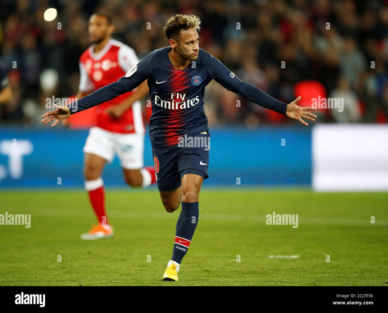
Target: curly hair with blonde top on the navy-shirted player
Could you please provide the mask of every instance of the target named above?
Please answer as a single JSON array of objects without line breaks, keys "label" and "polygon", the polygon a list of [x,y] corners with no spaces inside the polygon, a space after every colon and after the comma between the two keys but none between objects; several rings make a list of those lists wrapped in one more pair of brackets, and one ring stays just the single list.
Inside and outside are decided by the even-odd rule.
[{"label": "curly hair with blonde top on the navy-shirted player", "polygon": [[180,31],[182,29],[196,28],[197,31],[201,29],[201,20],[194,14],[191,15],[183,15],[177,14],[172,16],[166,22],[163,31],[167,39],[176,39],[180,35]]}]

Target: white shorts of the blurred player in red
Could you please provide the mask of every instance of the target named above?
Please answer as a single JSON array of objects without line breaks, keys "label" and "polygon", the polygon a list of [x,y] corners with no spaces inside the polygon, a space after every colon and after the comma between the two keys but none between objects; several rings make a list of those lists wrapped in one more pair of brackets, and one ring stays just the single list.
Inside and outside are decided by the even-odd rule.
[{"label": "white shorts of the blurred player in red", "polygon": [[123,169],[141,169],[144,165],[144,134],[119,134],[95,126],[90,128],[82,151],[98,155],[109,163],[117,154]]}]

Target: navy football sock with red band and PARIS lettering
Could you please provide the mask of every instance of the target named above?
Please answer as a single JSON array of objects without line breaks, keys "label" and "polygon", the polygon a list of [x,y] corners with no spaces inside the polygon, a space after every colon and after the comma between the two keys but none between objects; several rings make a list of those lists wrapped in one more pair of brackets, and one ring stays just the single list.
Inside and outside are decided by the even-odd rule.
[{"label": "navy football sock with red band and PARIS lettering", "polygon": [[198,223],[199,202],[183,202],[182,211],[180,212],[177,228],[175,229],[175,242],[172,250],[172,260],[179,263],[182,262],[183,257],[189,249],[191,238]]}]

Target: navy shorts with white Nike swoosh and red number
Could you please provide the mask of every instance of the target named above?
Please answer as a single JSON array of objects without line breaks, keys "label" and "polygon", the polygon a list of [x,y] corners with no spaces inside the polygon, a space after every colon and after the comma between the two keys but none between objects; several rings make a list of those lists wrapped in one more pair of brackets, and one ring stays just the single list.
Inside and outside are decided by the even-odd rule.
[{"label": "navy shorts with white Nike swoosh and red number", "polygon": [[154,148],[156,182],[160,191],[172,191],[181,185],[185,174],[208,175],[210,134],[208,131],[182,136],[178,144]]}]

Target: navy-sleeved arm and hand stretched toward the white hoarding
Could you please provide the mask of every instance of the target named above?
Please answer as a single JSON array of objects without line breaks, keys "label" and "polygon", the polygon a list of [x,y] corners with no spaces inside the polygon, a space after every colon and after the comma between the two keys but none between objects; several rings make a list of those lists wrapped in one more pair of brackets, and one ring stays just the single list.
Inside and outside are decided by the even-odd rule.
[{"label": "navy-sleeved arm and hand stretched toward the white hoarding", "polygon": [[277,113],[284,114],[292,119],[297,119],[306,126],[308,124],[301,119],[302,117],[309,120],[315,120],[313,117],[317,117],[310,112],[306,112],[306,110],[315,110],[315,108],[299,107],[296,104],[300,100],[300,97],[298,97],[290,104],[276,100],[259,88],[241,81],[233,72],[231,72],[225,65],[223,65],[222,62],[213,56],[209,58],[206,66],[210,72],[211,77],[217,81],[217,83],[253,103],[256,103]]}]

